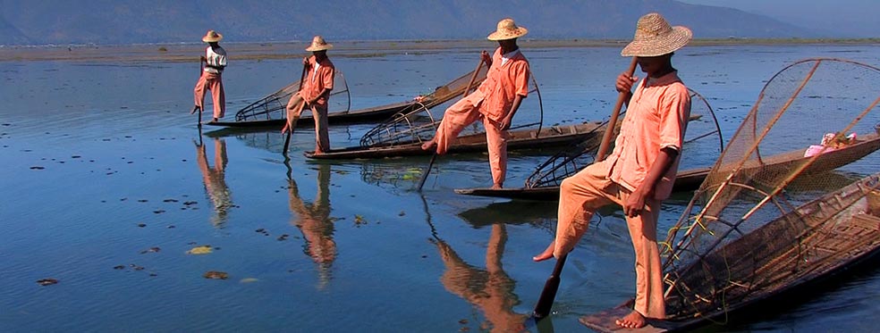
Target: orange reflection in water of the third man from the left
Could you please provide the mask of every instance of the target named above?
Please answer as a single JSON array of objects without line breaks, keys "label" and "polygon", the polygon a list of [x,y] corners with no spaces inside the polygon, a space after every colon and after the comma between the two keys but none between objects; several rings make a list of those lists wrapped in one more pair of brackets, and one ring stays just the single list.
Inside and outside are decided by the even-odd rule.
[{"label": "orange reflection in water of the third man from the left", "polygon": [[504,244],[507,243],[507,229],[503,223],[492,225],[486,252],[486,270],[461,260],[443,240],[436,239],[433,242],[440,250],[440,257],[446,266],[446,271],[440,278],[446,290],[478,306],[486,315],[487,322],[480,324],[480,330],[526,330],[525,322],[529,316],[513,312],[513,306],[520,304],[520,299],[513,293],[515,281],[507,276],[501,263]]}]

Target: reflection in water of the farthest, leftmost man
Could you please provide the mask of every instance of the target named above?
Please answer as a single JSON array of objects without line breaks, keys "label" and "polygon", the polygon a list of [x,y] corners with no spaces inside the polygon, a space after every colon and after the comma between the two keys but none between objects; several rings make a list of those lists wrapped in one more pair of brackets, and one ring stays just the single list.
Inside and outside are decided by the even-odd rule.
[{"label": "reflection in water of the farthest, leftmost man", "polygon": [[196,144],[196,161],[199,162],[199,171],[205,183],[205,191],[211,199],[215,214],[211,216],[211,223],[217,228],[223,228],[228,219],[227,213],[233,206],[229,187],[226,186],[226,141],[222,138],[214,138],[214,167],[207,162],[205,145]]}]

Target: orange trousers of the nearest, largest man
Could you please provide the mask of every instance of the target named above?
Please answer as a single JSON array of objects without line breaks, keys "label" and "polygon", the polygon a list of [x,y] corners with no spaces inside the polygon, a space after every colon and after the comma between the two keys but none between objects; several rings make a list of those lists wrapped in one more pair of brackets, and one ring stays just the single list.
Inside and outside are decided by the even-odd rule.
[{"label": "orange trousers of the nearest, largest man", "polygon": [[[598,162],[563,180],[553,252],[556,258],[574,248],[597,209],[609,204],[622,206],[630,196],[630,191],[608,179],[608,174],[606,163]],[[663,263],[657,247],[659,214],[660,201],[648,199],[644,210],[636,217],[628,217],[626,224],[636,254],[634,310],[647,318],[664,319]]]}]

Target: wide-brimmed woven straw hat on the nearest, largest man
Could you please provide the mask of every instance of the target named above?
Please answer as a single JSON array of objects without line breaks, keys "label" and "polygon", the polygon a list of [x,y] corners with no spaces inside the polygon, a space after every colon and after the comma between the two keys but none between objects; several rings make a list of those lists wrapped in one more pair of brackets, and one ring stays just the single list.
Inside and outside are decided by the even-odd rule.
[{"label": "wide-brimmed woven straw hat on the nearest, largest man", "polygon": [[622,56],[657,56],[673,53],[681,46],[688,45],[693,32],[690,29],[669,25],[669,22],[656,12],[639,18],[636,35],[632,42],[621,51]]}]

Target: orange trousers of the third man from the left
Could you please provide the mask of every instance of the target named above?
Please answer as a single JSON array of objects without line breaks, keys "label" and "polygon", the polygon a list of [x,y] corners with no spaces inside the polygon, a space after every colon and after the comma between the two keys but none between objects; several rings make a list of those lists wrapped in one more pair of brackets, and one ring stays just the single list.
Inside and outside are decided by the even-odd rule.
[{"label": "orange trousers of the third man from the left", "polygon": [[489,168],[492,170],[492,181],[502,185],[507,176],[508,133],[506,130],[500,129],[500,123],[489,120],[479,112],[480,104],[474,106],[468,101],[468,98],[464,98],[446,109],[435,134],[437,154],[446,154],[461,130],[482,118],[483,128],[486,129],[486,146],[489,153]]}]

